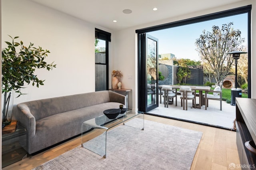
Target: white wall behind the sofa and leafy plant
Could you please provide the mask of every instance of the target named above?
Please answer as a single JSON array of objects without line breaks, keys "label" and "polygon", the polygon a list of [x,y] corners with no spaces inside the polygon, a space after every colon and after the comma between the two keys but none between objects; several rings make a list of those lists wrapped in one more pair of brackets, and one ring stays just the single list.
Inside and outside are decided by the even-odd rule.
[{"label": "white wall behind the sofa and leafy plant", "polygon": [[14,104],[95,91],[95,27],[35,2],[2,0],[2,47],[11,41],[8,35],[19,36],[24,45],[32,42],[50,50],[46,61],[57,64],[52,71],[38,69],[44,85],[28,85],[22,89],[28,94],[14,99]]}]

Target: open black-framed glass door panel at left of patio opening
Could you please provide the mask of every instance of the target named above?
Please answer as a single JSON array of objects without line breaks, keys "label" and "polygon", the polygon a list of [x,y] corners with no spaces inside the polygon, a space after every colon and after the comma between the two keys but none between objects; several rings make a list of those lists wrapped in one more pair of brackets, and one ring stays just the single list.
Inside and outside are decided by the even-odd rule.
[{"label": "open black-framed glass door panel at left of patio opening", "polygon": [[158,107],[158,39],[140,34],[139,110],[150,111]]}]

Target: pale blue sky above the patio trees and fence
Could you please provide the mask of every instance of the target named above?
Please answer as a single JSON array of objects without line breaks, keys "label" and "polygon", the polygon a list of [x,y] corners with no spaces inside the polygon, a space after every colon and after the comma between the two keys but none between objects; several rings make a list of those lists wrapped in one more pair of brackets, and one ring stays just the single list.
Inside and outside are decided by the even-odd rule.
[{"label": "pale blue sky above the patio trees and fence", "polygon": [[158,38],[158,54],[172,53],[178,59],[191,59],[200,61],[196,49],[196,39],[200,37],[203,30],[212,32],[212,26],[222,27],[222,24],[233,22],[233,28],[242,32],[241,37],[245,38],[247,46],[247,13],[205,22],[168,28],[154,32],[148,32],[151,36]]}]

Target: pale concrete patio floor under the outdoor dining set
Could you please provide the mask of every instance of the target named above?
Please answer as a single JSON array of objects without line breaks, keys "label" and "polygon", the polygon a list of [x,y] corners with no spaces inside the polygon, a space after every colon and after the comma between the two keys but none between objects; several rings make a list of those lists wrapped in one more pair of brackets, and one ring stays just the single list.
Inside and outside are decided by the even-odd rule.
[{"label": "pale concrete patio floor under the outdoor dining set", "polygon": [[[163,101],[162,98],[162,104],[159,102],[159,107],[148,111],[148,113],[220,128],[233,129],[233,121],[236,118],[236,107],[226,103],[226,101],[222,101],[222,111],[220,111],[220,101],[215,100],[209,100],[207,110],[205,110],[204,105],[201,109],[192,108],[192,100],[188,100],[187,111],[183,110],[183,107],[181,107],[180,96],[177,97],[177,107],[175,106],[175,99],[174,104],[169,104],[168,108],[164,107]],[[196,103],[198,103],[198,97],[196,101]]]}]

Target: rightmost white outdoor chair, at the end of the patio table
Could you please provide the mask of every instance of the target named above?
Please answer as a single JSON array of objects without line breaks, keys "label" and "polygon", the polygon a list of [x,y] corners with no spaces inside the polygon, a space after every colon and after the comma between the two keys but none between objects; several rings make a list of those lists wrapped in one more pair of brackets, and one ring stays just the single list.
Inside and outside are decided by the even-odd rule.
[{"label": "rightmost white outdoor chair, at the end of the patio table", "polygon": [[[213,94],[208,94],[209,92],[213,92]],[[220,110],[222,110],[222,91],[220,86],[216,86],[214,90],[206,91],[205,93],[205,110],[208,107],[208,100],[219,100],[220,101]]]}]

